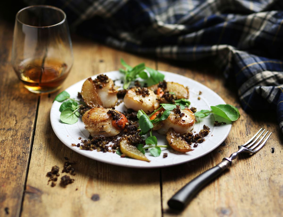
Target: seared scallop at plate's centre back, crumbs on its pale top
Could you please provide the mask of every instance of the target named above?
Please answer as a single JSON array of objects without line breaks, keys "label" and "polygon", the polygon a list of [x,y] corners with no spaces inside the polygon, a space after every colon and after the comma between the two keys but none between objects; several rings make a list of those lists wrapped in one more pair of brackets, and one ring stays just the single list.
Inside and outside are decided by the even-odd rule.
[{"label": "seared scallop at plate's centre back, crumbs on its pale top", "polygon": [[158,108],[157,95],[152,90],[143,88],[129,89],[124,97],[124,104],[127,108],[134,111],[143,110],[145,113],[150,113]]}]

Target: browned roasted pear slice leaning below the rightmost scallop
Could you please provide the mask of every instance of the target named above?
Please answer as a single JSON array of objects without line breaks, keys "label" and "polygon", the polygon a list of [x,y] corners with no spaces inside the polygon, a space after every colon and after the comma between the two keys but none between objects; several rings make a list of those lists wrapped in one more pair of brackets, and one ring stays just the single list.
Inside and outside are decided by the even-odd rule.
[{"label": "browned roasted pear slice leaning below the rightmost scallop", "polygon": [[177,152],[190,152],[192,151],[191,146],[180,137],[179,133],[176,133],[173,128],[170,128],[166,134],[166,139],[170,147]]}]

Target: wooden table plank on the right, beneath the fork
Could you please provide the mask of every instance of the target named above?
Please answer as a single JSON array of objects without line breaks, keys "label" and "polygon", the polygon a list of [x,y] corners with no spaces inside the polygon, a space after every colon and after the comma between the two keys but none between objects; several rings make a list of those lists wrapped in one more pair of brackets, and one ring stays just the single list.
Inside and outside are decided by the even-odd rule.
[{"label": "wooden table plank on the right, beneath the fork", "polygon": [[[186,63],[190,68],[201,65]],[[218,93],[226,103],[240,108],[236,91],[224,86],[221,73],[215,69],[190,70],[185,65],[175,67],[158,62],[158,69],[192,78]],[[225,142],[210,154],[198,160],[162,169],[162,201],[164,216],[282,216],[283,163],[282,133],[274,112],[245,113],[233,123]],[[171,211],[167,201],[188,181],[215,166],[223,157],[237,151],[259,128],[273,132],[265,147],[256,155],[240,155],[233,165],[216,181],[203,189],[183,212]],[[274,153],[272,153],[274,148]]]}]

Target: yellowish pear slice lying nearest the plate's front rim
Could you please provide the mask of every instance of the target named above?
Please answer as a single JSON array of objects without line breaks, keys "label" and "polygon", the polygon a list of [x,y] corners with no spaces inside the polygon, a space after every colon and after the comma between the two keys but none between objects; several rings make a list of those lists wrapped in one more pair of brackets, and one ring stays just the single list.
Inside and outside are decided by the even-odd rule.
[{"label": "yellowish pear slice lying nearest the plate's front rim", "polygon": [[143,153],[141,153],[136,146],[133,146],[127,139],[120,142],[120,151],[122,154],[125,154],[127,157],[131,157],[141,161],[150,162]]}]

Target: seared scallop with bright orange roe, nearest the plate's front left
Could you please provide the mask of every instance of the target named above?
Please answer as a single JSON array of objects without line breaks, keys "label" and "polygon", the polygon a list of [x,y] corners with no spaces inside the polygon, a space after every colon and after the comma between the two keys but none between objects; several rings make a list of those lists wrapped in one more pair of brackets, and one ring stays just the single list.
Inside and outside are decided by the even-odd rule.
[{"label": "seared scallop with bright orange roe, nearest the plate's front left", "polygon": [[92,136],[102,135],[105,137],[118,135],[128,122],[121,112],[102,107],[95,107],[85,112],[82,121],[85,124],[85,129]]}]

